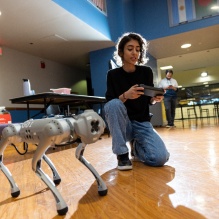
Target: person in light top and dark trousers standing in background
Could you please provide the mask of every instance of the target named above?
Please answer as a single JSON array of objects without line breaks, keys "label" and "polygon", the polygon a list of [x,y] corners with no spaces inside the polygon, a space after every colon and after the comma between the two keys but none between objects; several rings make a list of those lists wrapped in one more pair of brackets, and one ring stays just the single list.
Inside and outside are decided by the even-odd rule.
[{"label": "person in light top and dark trousers standing in background", "polygon": [[167,128],[174,127],[174,119],[176,112],[176,104],[177,104],[177,91],[178,91],[178,83],[173,77],[172,70],[166,70],[166,77],[163,78],[159,87],[163,88],[166,92],[164,94],[164,106],[166,110],[166,118],[167,118]]}]

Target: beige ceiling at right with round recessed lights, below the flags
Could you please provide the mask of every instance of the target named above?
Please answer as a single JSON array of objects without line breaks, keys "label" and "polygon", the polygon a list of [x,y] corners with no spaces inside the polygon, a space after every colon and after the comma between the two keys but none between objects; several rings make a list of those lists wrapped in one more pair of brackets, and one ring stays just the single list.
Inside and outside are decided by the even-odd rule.
[{"label": "beige ceiling at right with round recessed lights, below the flags", "polygon": [[[182,86],[219,83],[219,25],[159,38],[149,42],[148,52],[158,61],[158,67],[173,66],[174,78]],[[188,49],[181,45],[190,43]],[[208,77],[201,78],[202,71]],[[162,76],[165,75],[162,71]]]}]

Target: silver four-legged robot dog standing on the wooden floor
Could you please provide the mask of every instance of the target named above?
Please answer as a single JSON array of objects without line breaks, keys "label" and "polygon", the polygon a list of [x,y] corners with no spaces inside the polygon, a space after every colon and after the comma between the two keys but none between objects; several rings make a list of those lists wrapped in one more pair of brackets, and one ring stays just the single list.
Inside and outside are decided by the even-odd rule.
[{"label": "silver four-legged robot dog standing on the wooden floor", "polygon": [[[10,144],[26,142],[36,144],[37,149],[33,155],[32,169],[49,187],[56,199],[57,212],[59,215],[66,214],[68,207],[57,190],[55,184],[61,182],[61,178],[51,162],[45,155],[49,147],[54,147],[66,142],[79,140],[75,156],[79,159],[94,175],[98,183],[98,193],[101,196],[107,194],[107,187],[94,167],[84,158],[83,152],[86,144],[96,142],[105,128],[102,118],[93,110],[86,110],[84,113],[73,117],[53,117],[37,120],[28,120],[22,124],[10,124],[2,131],[0,142],[0,169],[7,177],[11,185],[11,196],[18,197],[20,190],[16,185],[10,171],[3,164],[3,152]],[[41,169],[41,160],[44,160],[53,172],[53,181]]]}]

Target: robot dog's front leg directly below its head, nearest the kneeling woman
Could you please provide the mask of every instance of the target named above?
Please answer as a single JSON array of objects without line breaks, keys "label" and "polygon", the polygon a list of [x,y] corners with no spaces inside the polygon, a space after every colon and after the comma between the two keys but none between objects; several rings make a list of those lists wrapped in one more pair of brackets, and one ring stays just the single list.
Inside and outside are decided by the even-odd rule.
[{"label": "robot dog's front leg directly below its head, nearest the kneeling woman", "polygon": [[94,169],[94,167],[83,156],[85,147],[86,147],[86,144],[80,143],[76,148],[75,156],[93,173],[94,177],[97,180],[98,193],[99,193],[99,195],[104,196],[107,194],[106,184],[104,183],[104,181],[102,180],[102,178],[100,177],[98,172]]}]

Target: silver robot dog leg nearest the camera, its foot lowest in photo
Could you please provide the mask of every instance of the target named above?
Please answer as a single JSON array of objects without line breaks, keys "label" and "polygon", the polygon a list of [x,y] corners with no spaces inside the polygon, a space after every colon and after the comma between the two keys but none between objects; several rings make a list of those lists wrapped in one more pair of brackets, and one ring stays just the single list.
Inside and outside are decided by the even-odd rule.
[{"label": "silver robot dog leg nearest the camera, its foot lowest in photo", "polygon": [[51,140],[52,138],[47,138],[44,141],[40,142],[33,156],[32,168],[36,172],[36,174],[40,177],[40,179],[48,186],[48,188],[51,190],[52,194],[54,195],[56,199],[56,208],[58,214],[64,215],[68,211],[68,206],[65,203],[64,199],[62,198],[61,194],[59,193],[53,181],[41,169],[41,158],[44,156],[45,151],[48,148],[48,145],[50,145],[51,143]]}]

